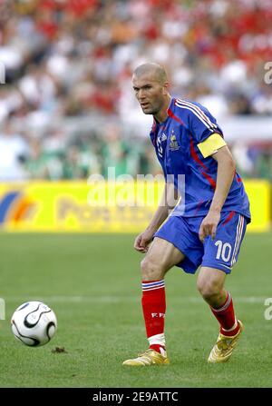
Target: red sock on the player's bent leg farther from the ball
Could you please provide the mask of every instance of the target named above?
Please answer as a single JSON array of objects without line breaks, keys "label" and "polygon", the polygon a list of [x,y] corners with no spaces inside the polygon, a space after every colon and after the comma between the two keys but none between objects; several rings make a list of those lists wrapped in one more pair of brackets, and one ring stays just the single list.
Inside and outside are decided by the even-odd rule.
[{"label": "red sock on the player's bent leg farther from the ball", "polygon": [[219,309],[214,309],[211,306],[210,309],[219,321],[222,334],[232,336],[238,333],[240,326],[236,320],[233,302],[229,293],[226,302]]}]

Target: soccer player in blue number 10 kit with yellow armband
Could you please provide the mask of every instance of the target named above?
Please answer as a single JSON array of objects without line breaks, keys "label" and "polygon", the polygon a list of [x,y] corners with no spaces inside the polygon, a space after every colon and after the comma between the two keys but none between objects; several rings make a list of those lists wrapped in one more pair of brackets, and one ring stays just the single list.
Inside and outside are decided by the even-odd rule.
[{"label": "soccer player in blue number 10 kit with yellow armband", "polygon": [[[159,64],[138,66],[132,83],[143,113],[153,115],[151,142],[166,182],[151,223],[134,243],[138,252],[146,253],[141,262],[141,304],[150,346],[123,365],[170,363],[164,336],[164,276],[174,265],[189,273],[200,266],[199,292],[219,321],[219,337],[208,361],[228,361],[243,324],[224,282],[238,261],[250,222],[247,193],[222,130],[205,107],[171,97]],[[181,195],[174,208],[169,199],[173,188]]]}]

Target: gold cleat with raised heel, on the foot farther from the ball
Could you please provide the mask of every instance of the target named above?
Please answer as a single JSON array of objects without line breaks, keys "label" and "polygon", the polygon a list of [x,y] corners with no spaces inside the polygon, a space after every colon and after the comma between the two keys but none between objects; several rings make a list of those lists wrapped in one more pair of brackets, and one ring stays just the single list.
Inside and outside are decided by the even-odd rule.
[{"label": "gold cleat with raised heel, on the foot farther from the ball", "polygon": [[242,322],[238,320],[238,323],[240,325],[240,329],[236,335],[227,336],[219,332],[218,341],[209,354],[208,362],[215,363],[228,361],[228,358],[238,343],[241,332],[244,330]]}]

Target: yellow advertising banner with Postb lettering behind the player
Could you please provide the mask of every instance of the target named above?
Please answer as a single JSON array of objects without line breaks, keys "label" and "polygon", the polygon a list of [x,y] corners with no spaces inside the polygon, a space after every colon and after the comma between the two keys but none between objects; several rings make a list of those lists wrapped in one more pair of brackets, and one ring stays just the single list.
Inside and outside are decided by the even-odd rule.
[{"label": "yellow advertising banner with Postb lettering behind the player", "polygon": [[[245,182],[252,223],[270,225],[270,184]],[[163,183],[138,181],[0,183],[0,230],[8,232],[140,233],[151,220]]]}]

